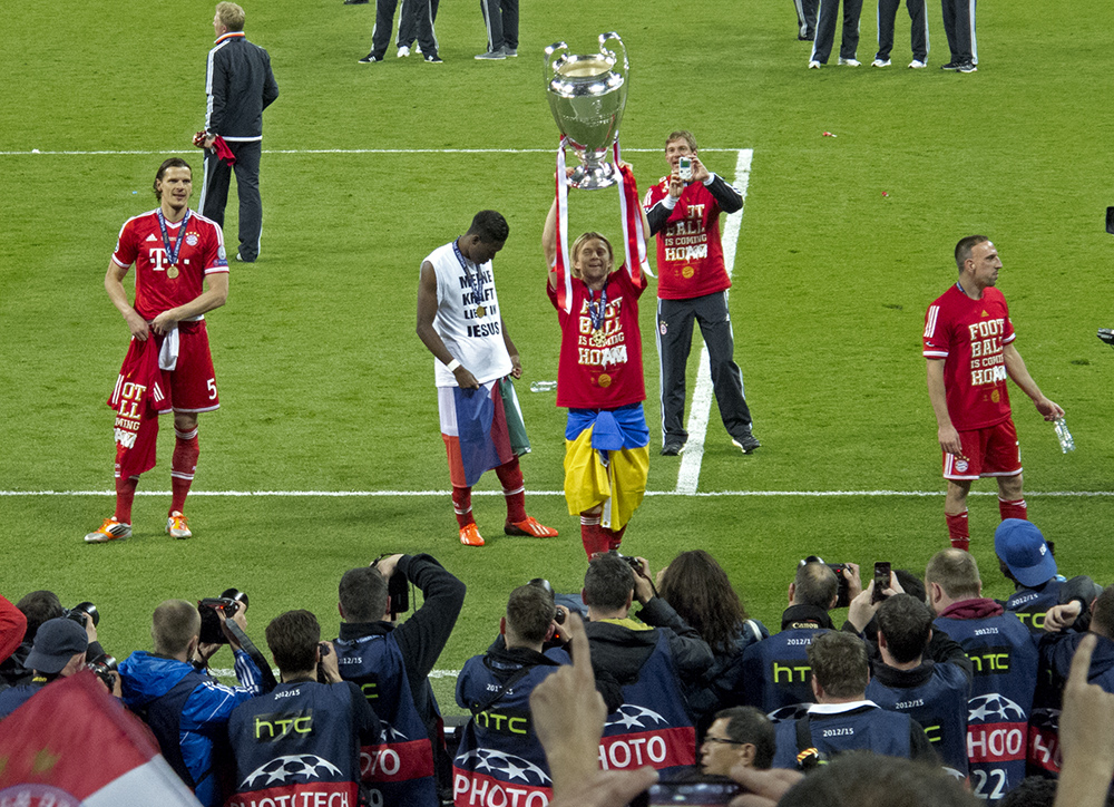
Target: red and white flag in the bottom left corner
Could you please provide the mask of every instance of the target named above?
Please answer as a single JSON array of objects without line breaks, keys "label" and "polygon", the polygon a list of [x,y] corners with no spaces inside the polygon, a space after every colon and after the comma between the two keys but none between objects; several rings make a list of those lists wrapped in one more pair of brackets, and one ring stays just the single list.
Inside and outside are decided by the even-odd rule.
[{"label": "red and white flag in the bottom left corner", "polygon": [[82,671],[0,725],[0,804],[199,807],[138,718]]}]

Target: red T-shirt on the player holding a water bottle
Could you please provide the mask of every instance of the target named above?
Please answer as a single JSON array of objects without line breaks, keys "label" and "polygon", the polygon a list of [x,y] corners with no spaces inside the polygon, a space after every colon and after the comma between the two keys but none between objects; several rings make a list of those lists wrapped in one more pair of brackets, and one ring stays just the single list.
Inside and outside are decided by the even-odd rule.
[{"label": "red T-shirt on the player holding a water bottle", "polygon": [[957,283],[928,307],[924,354],[944,360],[948,415],[956,430],[985,429],[1009,417],[1003,347],[1015,336],[1006,298],[997,289],[971,300]]}]

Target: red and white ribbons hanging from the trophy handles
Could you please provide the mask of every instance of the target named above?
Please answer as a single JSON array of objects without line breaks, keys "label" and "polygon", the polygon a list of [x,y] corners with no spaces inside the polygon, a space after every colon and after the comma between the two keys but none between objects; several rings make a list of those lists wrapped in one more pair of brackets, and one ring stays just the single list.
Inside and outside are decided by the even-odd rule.
[{"label": "red and white ribbons hanging from the trophy handles", "polygon": [[[565,172],[565,147],[567,137],[557,146],[557,307],[569,313],[573,304],[573,262],[568,254],[568,175]],[[638,187],[631,168],[619,163],[619,143],[612,146],[615,169],[619,172],[619,212],[623,216],[623,255],[626,271],[636,284],[642,283],[642,273],[651,278],[646,262],[646,232],[643,229],[642,203]]]}]

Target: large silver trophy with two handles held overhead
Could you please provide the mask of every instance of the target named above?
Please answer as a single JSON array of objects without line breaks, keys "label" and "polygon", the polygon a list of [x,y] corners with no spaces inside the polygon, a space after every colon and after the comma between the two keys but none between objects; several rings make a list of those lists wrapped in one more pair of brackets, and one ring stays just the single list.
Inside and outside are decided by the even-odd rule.
[{"label": "large silver trophy with two handles held overhead", "polygon": [[[610,40],[618,42],[619,52],[604,47]],[[604,158],[618,139],[629,69],[626,47],[615,32],[599,35],[598,54],[577,56],[565,42],[546,48],[549,108],[582,163],[570,177],[576,187],[595,189],[618,182],[617,167]]]}]

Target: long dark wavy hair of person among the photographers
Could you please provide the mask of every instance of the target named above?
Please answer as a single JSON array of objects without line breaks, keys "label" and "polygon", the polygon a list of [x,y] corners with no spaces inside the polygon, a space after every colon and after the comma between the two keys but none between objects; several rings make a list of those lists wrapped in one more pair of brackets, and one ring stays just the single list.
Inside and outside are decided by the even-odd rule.
[{"label": "long dark wavy hair of person among the photographers", "polygon": [[682,552],[662,574],[658,595],[717,652],[742,632],[746,610],[727,573],[704,550]]}]

